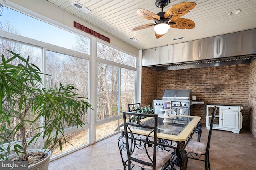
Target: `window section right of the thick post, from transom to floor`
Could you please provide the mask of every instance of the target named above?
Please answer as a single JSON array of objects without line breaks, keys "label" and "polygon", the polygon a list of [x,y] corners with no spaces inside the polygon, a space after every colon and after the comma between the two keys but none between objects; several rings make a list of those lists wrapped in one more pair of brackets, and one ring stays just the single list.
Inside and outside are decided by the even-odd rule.
[{"label": "window section right of the thick post, from transom to floor", "polygon": [[[106,60],[97,64],[97,121],[103,121],[120,116],[135,101],[136,69],[130,66],[135,67],[136,58],[101,43],[97,44],[97,57]],[[96,126],[96,139],[116,132],[118,122],[110,119]],[[108,130],[102,131],[102,126]]]}]

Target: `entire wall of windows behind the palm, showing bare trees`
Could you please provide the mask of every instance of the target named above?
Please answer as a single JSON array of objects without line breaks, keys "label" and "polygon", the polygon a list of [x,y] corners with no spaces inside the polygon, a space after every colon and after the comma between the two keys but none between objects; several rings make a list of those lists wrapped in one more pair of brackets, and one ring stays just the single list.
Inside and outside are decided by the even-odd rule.
[{"label": "entire wall of windows behind the palm, showing bare trees", "polygon": [[[90,142],[117,132],[122,123],[122,111],[127,110],[127,104],[135,101],[136,57],[104,43],[98,42],[97,47],[92,48],[91,39],[82,36],[84,33],[77,35],[76,31],[66,31],[10,8],[4,7],[2,12],[0,54],[10,57],[10,53],[6,51],[8,49],[20,53],[22,57],[30,56],[30,63],[36,64],[42,72],[51,75],[43,76],[45,87],[60,86],[60,82],[62,85],[73,84],[81,96],[94,104],[94,111],[90,110],[82,118],[86,124],[83,128],[65,127],[65,137],[73,146],[62,145],[62,152],[89,145]],[[92,42],[97,40],[95,37],[92,39]],[[97,51],[91,53],[91,49]],[[95,53],[96,56],[93,55]],[[96,76],[91,76],[90,70],[92,75]],[[91,101],[92,96],[97,96],[97,100]],[[92,114],[95,114],[95,120],[92,119]],[[38,126],[41,122],[38,120]],[[8,128],[13,127],[14,125],[11,125]],[[33,131],[34,129],[36,127],[30,127],[27,137],[33,137],[40,131]],[[20,137],[13,139],[17,141]],[[33,147],[40,148],[43,143],[42,139],[38,139]],[[60,154],[58,146],[52,154]]]}]

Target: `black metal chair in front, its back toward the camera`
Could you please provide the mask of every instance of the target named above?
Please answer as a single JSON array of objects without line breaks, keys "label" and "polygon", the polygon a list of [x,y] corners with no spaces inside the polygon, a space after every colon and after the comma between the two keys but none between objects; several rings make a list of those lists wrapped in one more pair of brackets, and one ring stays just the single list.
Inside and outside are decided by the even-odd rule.
[{"label": "black metal chair in front, its back toward the camera", "polygon": [[[163,166],[166,169],[170,165],[172,154],[166,150],[157,149],[158,115],[123,112],[123,118],[128,170],[133,165],[141,167],[142,170],[158,170]],[[133,132],[134,129],[144,129],[149,134],[141,138]]]}]

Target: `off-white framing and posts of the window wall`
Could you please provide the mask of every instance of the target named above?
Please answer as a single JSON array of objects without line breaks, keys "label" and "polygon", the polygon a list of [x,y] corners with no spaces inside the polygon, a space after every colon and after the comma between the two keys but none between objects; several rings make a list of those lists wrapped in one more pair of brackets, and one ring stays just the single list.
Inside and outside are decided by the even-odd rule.
[{"label": "off-white framing and posts of the window wall", "polygon": [[[82,58],[82,59],[89,59],[89,93],[88,93],[88,102],[90,102],[90,104],[92,104],[93,106],[96,106],[96,100],[95,98],[93,97],[93,95],[95,94],[95,89],[94,89],[94,86],[96,85],[96,80],[93,78],[94,75],[95,75],[95,66],[97,65],[97,62],[101,62],[101,63],[104,63],[104,64],[110,64],[110,65],[114,65],[114,66],[118,66],[119,69],[121,68],[125,68],[125,69],[129,69],[129,70],[134,70],[136,73],[136,78],[135,78],[135,101],[138,102],[138,100],[140,100],[140,90],[138,91],[138,83],[140,82],[140,78],[139,78],[139,75],[140,75],[140,70],[139,69],[139,61],[141,61],[141,55],[140,57],[139,56],[136,56],[136,55],[133,55],[131,53],[128,53],[127,51],[124,51],[122,49],[119,49],[117,47],[114,47],[113,45],[111,44],[108,44],[106,43],[105,41],[102,41],[100,39],[97,39],[96,37],[93,37],[91,35],[88,35],[86,33],[83,33],[81,32],[80,30],[77,30],[77,29],[74,29],[72,27],[69,27],[67,25],[64,25],[62,23],[58,23],[57,21],[54,21],[54,20],[51,20],[49,18],[45,18],[44,16],[41,16],[40,14],[37,14],[36,12],[32,12],[30,10],[27,10],[25,8],[21,8],[19,9],[18,7],[14,8],[14,7],[10,7],[8,5],[6,5],[8,8],[11,8],[13,10],[16,10],[20,13],[23,13],[23,14],[26,14],[30,17],[33,17],[33,18],[36,18],[40,21],[43,21],[43,22],[46,22],[48,24],[51,24],[51,25],[54,25],[56,27],[59,27],[60,29],[64,29],[66,31],[70,31],[71,33],[74,33],[76,35],[79,35],[79,36],[82,36],[82,37],[85,37],[85,38],[88,38],[90,39],[90,54],[85,54],[85,53],[81,53],[81,52],[78,52],[78,51],[74,51],[74,50],[71,50],[71,49],[66,49],[64,47],[59,47],[59,46],[56,46],[56,45],[52,45],[52,44],[49,44],[49,43],[45,43],[45,42],[42,42],[42,41],[37,41],[35,39],[31,39],[31,38],[28,38],[28,37],[24,37],[24,36],[21,36],[21,35],[16,35],[16,34],[13,34],[13,33],[8,33],[6,31],[0,31],[0,38],[2,39],[6,39],[6,40],[9,40],[9,41],[15,41],[15,42],[18,42],[18,43],[22,43],[22,44],[26,44],[26,45],[30,45],[30,46],[33,46],[33,47],[39,47],[39,48],[42,48],[42,72],[46,72],[46,50],[49,50],[49,51],[53,51],[53,52],[56,52],[56,53],[62,53],[64,55],[69,55],[69,56],[73,56],[73,57],[78,57],[78,58]],[[14,5],[16,6],[16,5]],[[131,55],[132,57],[135,57],[136,58],[136,64],[135,64],[135,67],[132,67],[132,66],[127,66],[127,65],[124,65],[124,64],[120,64],[120,63],[115,63],[115,62],[112,62],[112,61],[107,61],[105,59],[101,59],[101,58],[98,58],[96,56],[96,53],[97,53],[97,42],[103,44],[103,45],[106,45],[110,48],[113,48],[115,50],[118,50],[122,53],[126,53],[127,55]],[[141,53],[141,52],[140,52]],[[94,68],[93,68],[94,67]],[[46,81],[46,78],[45,76],[43,76],[43,82],[44,82],[44,85],[45,85],[45,81]],[[139,95],[138,95],[139,94]],[[120,98],[120,90],[118,92],[118,98]],[[120,102],[120,99],[118,99],[119,102]],[[104,124],[104,123],[108,123],[108,122],[111,122],[111,121],[116,121],[118,120],[118,123],[120,120],[122,120],[122,115],[120,115],[120,103],[118,104],[118,116],[116,117],[111,117],[109,119],[105,119],[105,120],[102,120],[102,121],[96,121],[96,117],[94,117],[94,111],[89,111],[88,113],[88,124],[86,124],[86,126],[84,126],[84,129],[88,129],[88,144],[86,145],[83,145],[83,146],[80,146],[80,147],[77,147],[75,149],[72,149],[68,152],[64,152],[58,156],[54,156],[51,158],[51,160],[55,160],[57,158],[60,158],[61,156],[64,156],[66,154],[69,154],[71,152],[74,152],[76,150],[79,150],[83,147],[86,147],[88,145],[91,145],[93,143],[95,143],[96,141],[100,141],[102,139],[105,139],[111,135],[114,135],[116,133],[119,133],[118,131],[120,130],[119,129],[119,126],[118,126],[118,131],[116,133],[113,133],[113,134],[110,134],[104,138],[100,138],[98,140],[95,140],[95,128],[97,125],[101,125],[101,124]],[[78,130],[82,130],[81,129],[77,129]],[[72,132],[75,132],[76,130],[74,130],[73,128],[68,128],[66,129],[66,133],[72,133]],[[66,134],[65,133],[65,134]]]}]

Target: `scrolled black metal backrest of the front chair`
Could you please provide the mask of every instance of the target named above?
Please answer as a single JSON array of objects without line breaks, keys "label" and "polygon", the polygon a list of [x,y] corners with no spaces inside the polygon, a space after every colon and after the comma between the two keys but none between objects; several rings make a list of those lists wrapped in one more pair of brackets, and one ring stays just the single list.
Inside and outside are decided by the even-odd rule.
[{"label": "scrolled black metal backrest of the front chair", "polygon": [[[152,166],[153,170],[156,167],[156,148],[157,148],[157,114],[142,114],[134,112],[123,112],[124,119],[124,135],[126,139],[127,159],[128,159],[128,170],[131,167],[131,161],[138,162],[147,166]],[[148,135],[138,135],[132,131],[133,129],[146,130]],[[135,131],[136,131],[135,130]],[[151,149],[149,149],[151,147]],[[148,150],[152,150],[152,153],[148,153]],[[139,160],[134,158],[135,150],[144,150],[148,153],[150,162]],[[143,158],[145,160],[145,158]]]}]

